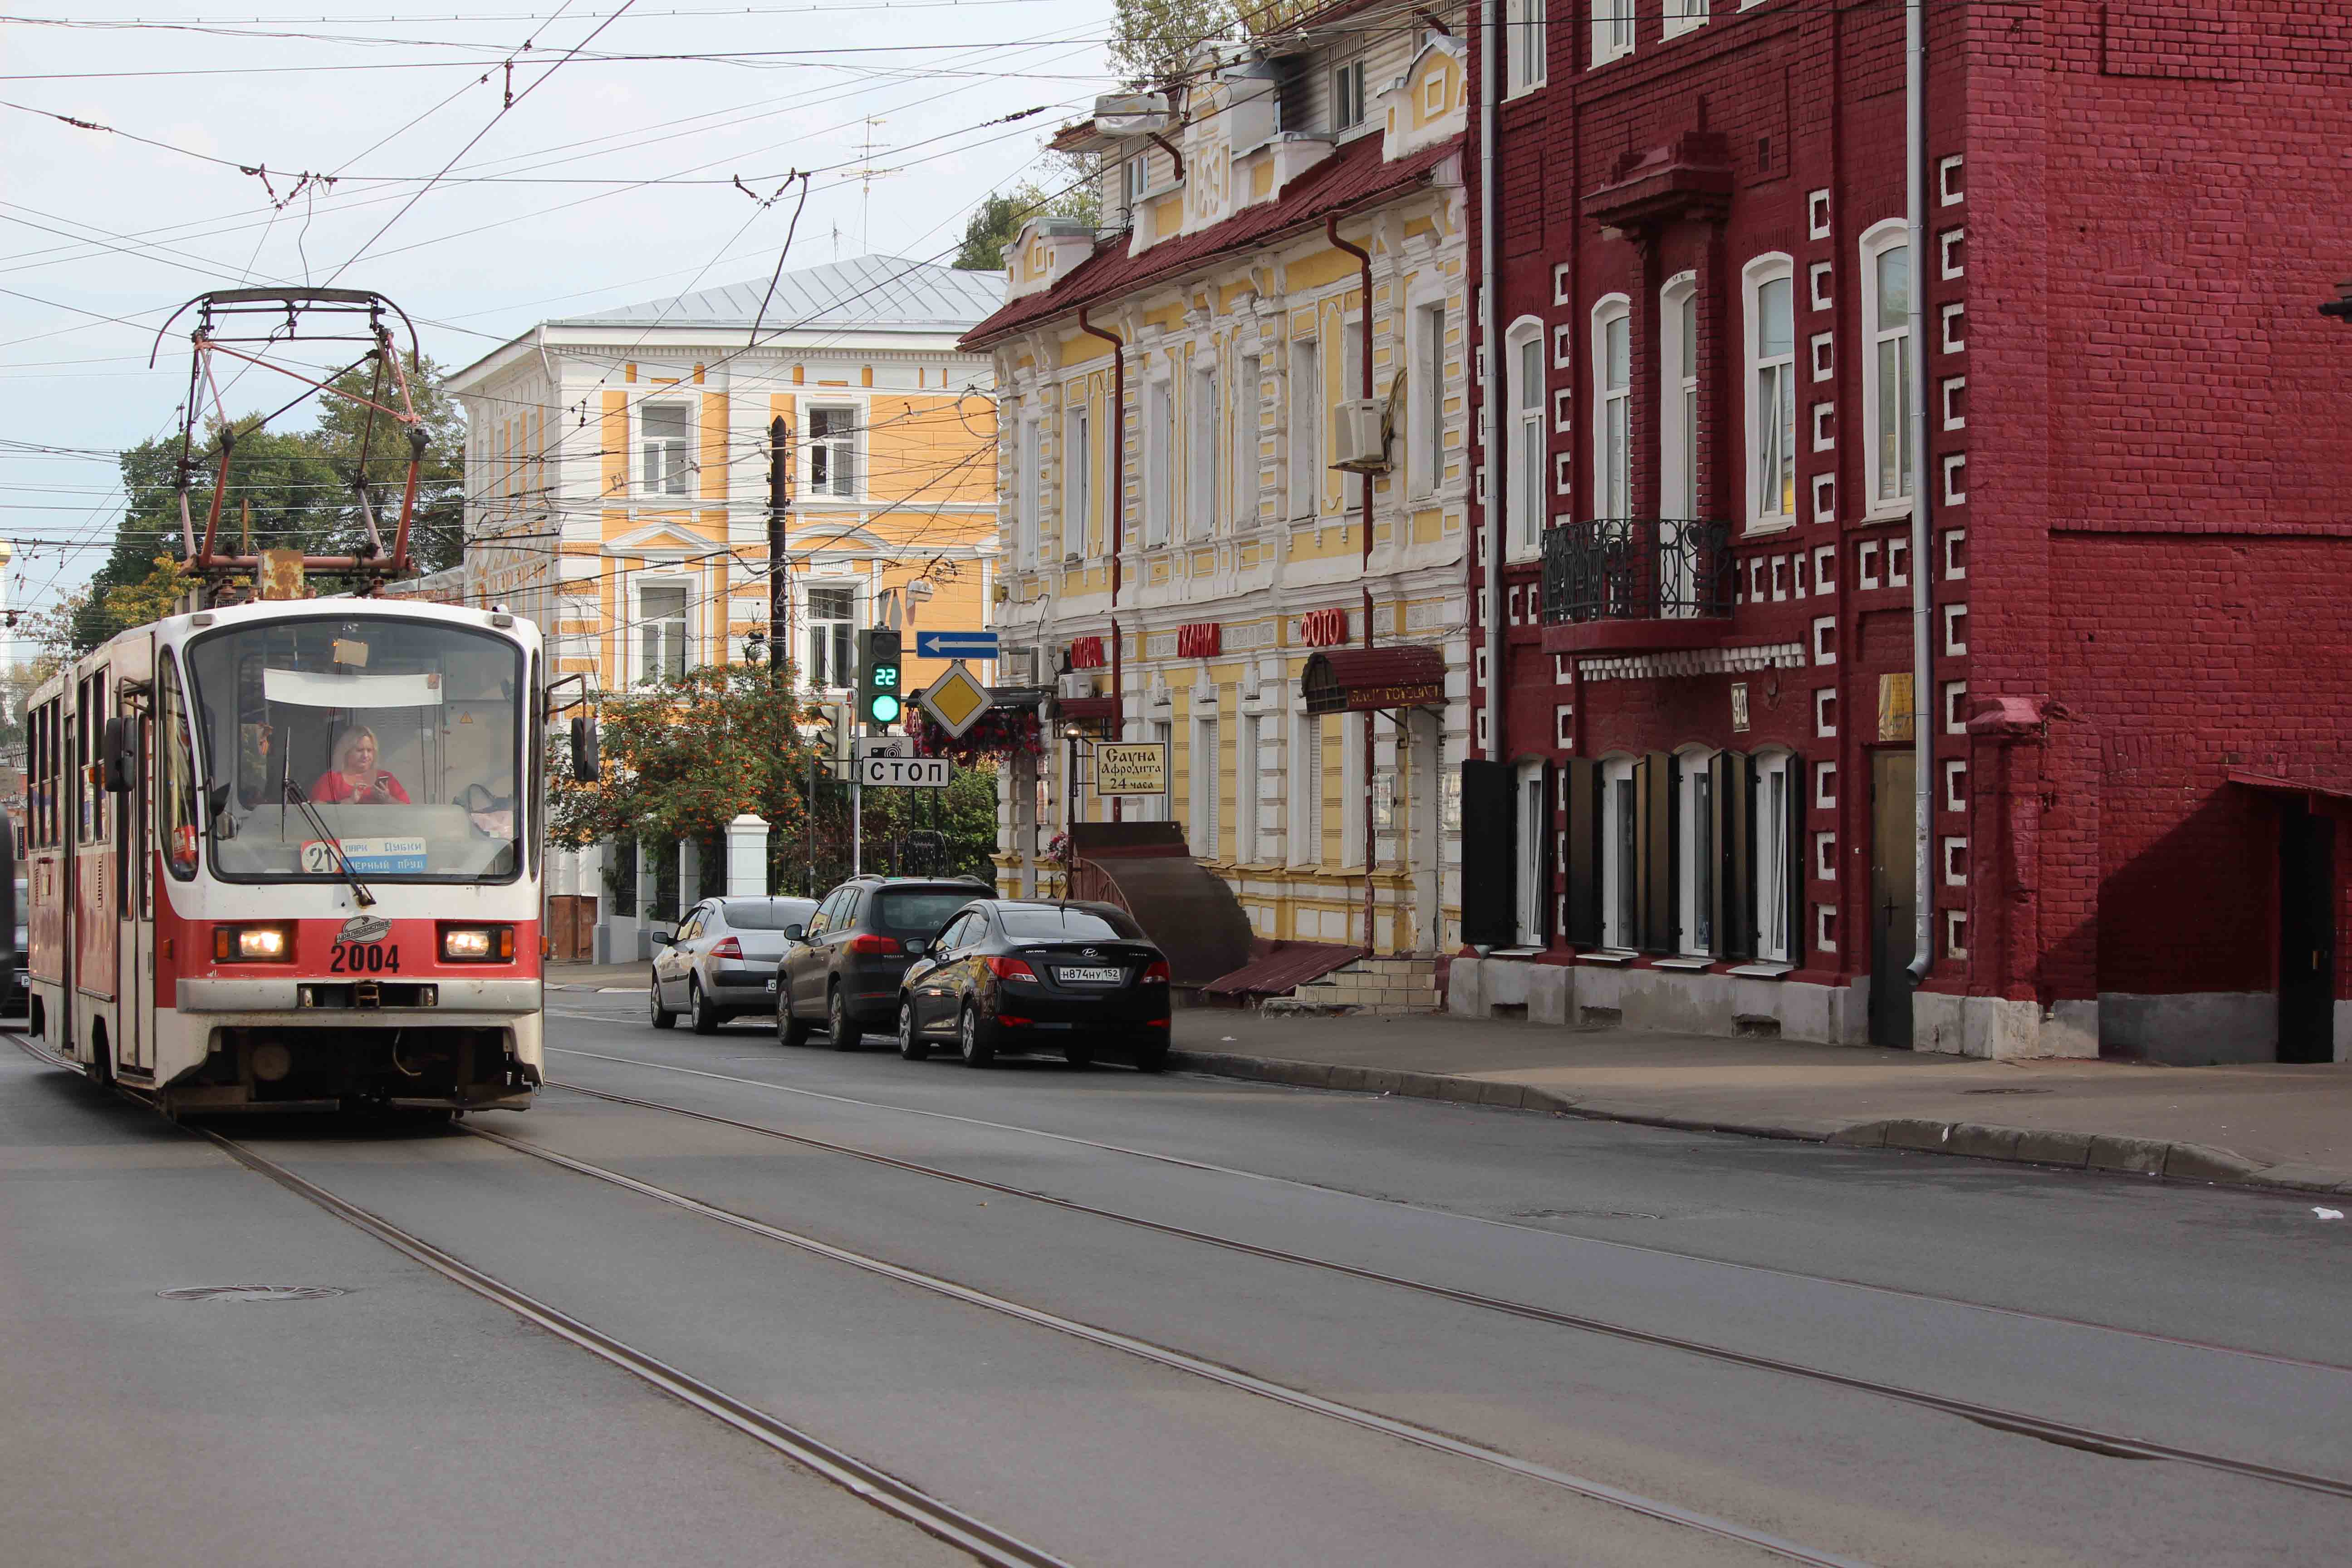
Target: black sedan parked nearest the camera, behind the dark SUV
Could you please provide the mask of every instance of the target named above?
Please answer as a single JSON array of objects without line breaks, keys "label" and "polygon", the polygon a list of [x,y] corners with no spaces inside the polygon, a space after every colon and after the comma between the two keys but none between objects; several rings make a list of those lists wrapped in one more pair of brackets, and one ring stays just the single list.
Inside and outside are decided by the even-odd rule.
[{"label": "black sedan parked nearest the camera, behind the dark SUV", "polygon": [[1096,1051],[1160,1072],[1169,1053],[1169,961],[1108,903],[976,898],[910,964],[898,990],[898,1056],[955,1046],[969,1067],[1000,1051]]}]

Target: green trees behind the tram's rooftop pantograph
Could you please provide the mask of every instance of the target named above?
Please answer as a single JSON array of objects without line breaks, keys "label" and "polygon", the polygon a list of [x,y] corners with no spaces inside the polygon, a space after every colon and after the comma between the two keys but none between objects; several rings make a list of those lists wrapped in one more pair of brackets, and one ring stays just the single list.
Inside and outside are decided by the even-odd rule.
[{"label": "green trees behind the tram's rooftop pantograph", "polygon": [[[376,393],[374,369],[346,371],[334,386],[369,397]],[[440,388],[440,369],[430,360],[409,369],[409,395],[426,430],[426,461],[419,468],[409,538],[419,564],[437,571],[466,555],[466,421],[456,400]],[[376,393],[374,402],[397,407],[388,388]],[[402,425],[348,397],[320,395],[308,407],[318,409],[318,425],[310,430],[256,428],[259,411],[233,421],[238,435],[228,454],[216,550],[240,550],[249,520],[256,550],[282,545],[310,555],[360,552],[367,527],[353,494],[355,477],[367,480],[383,548],[393,548],[409,461]],[[188,458],[193,463],[188,520],[202,534],[221,468],[219,423],[205,428],[202,442]],[[141,442],[122,454],[127,505],[115,529],[115,548],[92,574],[89,585],[59,607],[61,616],[35,625],[35,635],[52,651],[89,651],[115,632],[162,614],[155,609],[155,595],[165,588],[158,562],[176,562],[188,552],[174,489],[176,473],[176,435]],[[162,604],[167,607],[169,597]]]}]

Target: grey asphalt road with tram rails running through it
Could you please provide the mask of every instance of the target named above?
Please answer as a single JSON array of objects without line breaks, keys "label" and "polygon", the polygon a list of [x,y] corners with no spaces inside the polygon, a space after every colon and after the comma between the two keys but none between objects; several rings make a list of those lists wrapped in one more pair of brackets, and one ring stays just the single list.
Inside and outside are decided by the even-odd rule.
[{"label": "grey asphalt road with tram rails running through it", "polygon": [[[1035,1561],[2343,1561],[2314,1204],[550,1001],[524,1114],[214,1126]],[[969,1561],[19,1053],[0,1175],[14,1561]]]}]

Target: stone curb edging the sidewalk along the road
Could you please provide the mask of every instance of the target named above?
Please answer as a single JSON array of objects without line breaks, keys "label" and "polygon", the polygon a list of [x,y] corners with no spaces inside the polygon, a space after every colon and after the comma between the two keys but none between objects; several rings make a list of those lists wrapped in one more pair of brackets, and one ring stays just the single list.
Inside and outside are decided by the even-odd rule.
[{"label": "stone curb edging the sidewalk along the road", "polygon": [[1178,1072],[1204,1072],[1221,1079],[1388,1093],[1414,1100],[1449,1100],[1454,1105],[1501,1105],[1505,1110],[1534,1110],[1555,1117],[1581,1117],[1585,1121],[1661,1126],[1677,1133],[1736,1133],[1743,1138],[1825,1143],[1846,1150],[1962,1154],[1966,1159],[2002,1159],[2025,1166],[2056,1166],[2060,1171],[2112,1171],[2185,1182],[2352,1197],[2352,1171],[2307,1164],[2265,1166],[2209,1143],[2122,1138],[2110,1133],[2051,1133],[1990,1121],[1931,1121],[1922,1117],[1884,1117],[1879,1121],[1837,1121],[1830,1117],[1783,1117],[1778,1121],[1668,1117],[1632,1107],[1611,1110],[1592,1100],[1536,1088],[1534,1084],[1496,1084],[1449,1072],[1291,1063],[1270,1056],[1232,1056],[1228,1051],[1169,1051],[1167,1065]]}]

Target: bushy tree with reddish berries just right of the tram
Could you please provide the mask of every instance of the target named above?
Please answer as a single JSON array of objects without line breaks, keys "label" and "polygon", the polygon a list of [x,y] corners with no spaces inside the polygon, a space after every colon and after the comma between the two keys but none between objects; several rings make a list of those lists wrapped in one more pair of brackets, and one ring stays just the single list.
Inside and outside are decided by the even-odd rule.
[{"label": "bushy tree with reddish berries just right of the tram", "polygon": [[743,813],[797,835],[811,750],[800,724],[811,717],[767,665],[701,665],[607,693],[597,712],[604,778],[583,785],[550,771],[550,837],[572,846],[710,842]]}]

